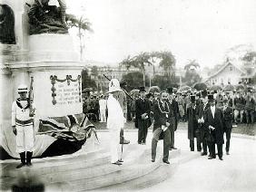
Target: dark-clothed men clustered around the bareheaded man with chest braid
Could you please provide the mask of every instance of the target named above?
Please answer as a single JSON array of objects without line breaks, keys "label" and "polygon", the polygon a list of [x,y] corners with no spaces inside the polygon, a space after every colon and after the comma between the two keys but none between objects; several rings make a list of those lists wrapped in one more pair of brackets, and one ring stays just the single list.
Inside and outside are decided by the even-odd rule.
[{"label": "dark-clothed men clustered around the bareheaded man with chest braid", "polygon": [[[149,99],[152,98],[152,99]],[[163,139],[164,163],[170,164],[169,150],[174,147],[174,131],[178,126],[178,103],[172,88],[162,91],[158,96],[147,95],[144,87],[140,88],[140,97],[135,101],[135,126],[138,128],[138,144],[146,143],[148,128],[153,124],[152,161],[155,161],[157,142]]]}]

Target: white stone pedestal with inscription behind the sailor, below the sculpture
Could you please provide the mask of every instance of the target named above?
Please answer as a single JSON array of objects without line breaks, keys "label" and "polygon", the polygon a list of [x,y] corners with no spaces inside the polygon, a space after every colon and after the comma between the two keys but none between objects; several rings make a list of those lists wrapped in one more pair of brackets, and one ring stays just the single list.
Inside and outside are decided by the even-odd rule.
[{"label": "white stone pedestal with inscription behind the sailor, below the sculpture", "polygon": [[[69,34],[37,34],[28,36],[28,51],[20,55],[20,50],[5,53],[1,66],[1,145],[15,158],[15,135],[11,128],[12,102],[18,97],[17,87],[25,83],[28,88],[34,78],[34,130],[38,130],[39,120],[47,117],[62,117],[83,113],[82,78],[84,63],[79,62],[79,54],[74,52],[72,37]],[[11,59],[10,59],[11,58]],[[6,62],[7,61],[7,62]],[[47,139],[48,137],[48,139]],[[36,136],[35,142],[48,148],[53,142],[50,136]],[[36,140],[37,139],[37,140]],[[38,140],[39,139],[39,140]],[[40,156],[42,149],[35,149],[34,156]]]}]

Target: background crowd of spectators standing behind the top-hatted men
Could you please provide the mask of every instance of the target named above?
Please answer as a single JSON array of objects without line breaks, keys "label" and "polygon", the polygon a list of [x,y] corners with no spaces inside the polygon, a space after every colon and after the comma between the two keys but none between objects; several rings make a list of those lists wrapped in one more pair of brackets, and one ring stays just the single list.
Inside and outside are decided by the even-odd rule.
[{"label": "background crowd of spectators standing behind the top-hatted men", "polygon": [[[123,90],[125,90],[125,82],[120,83]],[[195,99],[198,102],[202,98],[202,91],[177,91],[173,88],[173,97],[178,104],[177,120],[178,121],[188,121],[188,108],[190,107],[192,101],[190,96],[195,95]],[[256,100],[253,92],[249,89],[247,91],[237,90],[237,91],[208,91],[212,93],[216,101],[216,106],[218,108],[223,107],[223,99],[228,100],[229,107],[233,110],[232,126],[237,127],[238,124],[246,123],[247,125],[253,125],[256,121]],[[125,93],[123,93],[125,94]],[[147,98],[151,103],[159,97],[160,91],[154,91],[146,93],[144,97]],[[135,121],[135,101],[141,97],[139,94],[133,94],[132,98],[124,98],[122,103],[122,108],[124,110],[124,117],[127,121]],[[83,98],[83,111],[88,115],[90,120],[106,122],[107,108],[106,108],[107,95],[102,93],[97,93],[91,91],[88,92]]]}]

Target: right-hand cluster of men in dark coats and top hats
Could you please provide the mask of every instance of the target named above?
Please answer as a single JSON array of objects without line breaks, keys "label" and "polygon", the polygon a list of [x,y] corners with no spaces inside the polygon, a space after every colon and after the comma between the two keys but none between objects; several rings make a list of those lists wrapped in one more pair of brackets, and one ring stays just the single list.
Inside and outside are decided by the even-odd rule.
[{"label": "right-hand cluster of men in dark coats and top hats", "polygon": [[218,108],[213,95],[207,95],[207,91],[202,91],[202,98],[197,101],[194,95],[190,98],[192,103],[188,107],[187,114],[191,150],[194,150],[194,138],[196,138],[197,151],[202,151],[202,156],[207,156],[209,151],[209,159],[216,158],[215,145],[217,145],[218,157],[223,160],[224,133],[226,134],[226,154],[230,154],[232,109],[229,107],[229,101],[223,99],[222,108]]}]

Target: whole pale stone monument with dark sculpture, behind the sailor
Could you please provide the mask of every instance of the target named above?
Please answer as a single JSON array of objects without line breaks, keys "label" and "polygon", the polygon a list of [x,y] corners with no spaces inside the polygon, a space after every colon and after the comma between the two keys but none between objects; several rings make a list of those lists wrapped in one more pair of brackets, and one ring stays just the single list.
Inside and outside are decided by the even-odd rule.
[{"label": "whole pale stone monument with dark sculpture, behind the sailor", "polygon": [[[11,106],[17,98],[17,86],[20,83],[29,86],[31,77],[34,78],[34,129],[38,130],[40,120],[45,118],[83,113],[81,72],[85,63],[79,61],[79,53],[74,51],[72,37],[64,24],[63,9],[57,22],[54,23],[53,19],[47,17],[48,23],[44,25],[43,18],[39,22],[44,27],[41,31],[36,31],[32,29],[34,23],[31,22],[31,18],[38,14],[34,7],[38,5],[37,8],[40,9],[41,4],[47,4],[48,0],[2,2],[0,26],[5,24],[7,17],[11,18],[12,22],[9,23],[8,30],[5,30],[5,36],[10,38],[3,35],[0,43],[0,143],[8,155],[17,158],[15,135],[11,130]],[[59,3],[62,8],[65,7],[64,0],[59,0]],[[58,9],[54,6],[54,11]],[[58,12],[54,12],[54,17],[56,13]],[[54,24],[59,24],[58,30],[53,30]],[[50,30],[44,31],[49,25]],[[0,30],[3,31],[3,27]],[[81,118],[79,120],[81,121]],[[40,156],[55,138],[36,135],[35,139],[36,145],[41,146],[41,149],[35,149],[34,156]],[[49,142],[46,143],[45,140]]]}]

